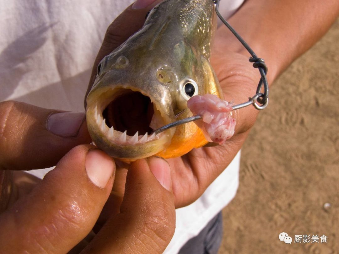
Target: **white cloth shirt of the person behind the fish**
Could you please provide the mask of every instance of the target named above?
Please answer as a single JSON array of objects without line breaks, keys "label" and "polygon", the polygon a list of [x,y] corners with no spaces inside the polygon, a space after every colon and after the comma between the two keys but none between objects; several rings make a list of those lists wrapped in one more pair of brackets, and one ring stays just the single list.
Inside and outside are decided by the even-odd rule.
[{"label": "white cloth shirt of the person behind the fish", "polygon": [[[84,111],[83,97],[106,28],[132,0],[0,0],[0,101]],[[243,0],[223,0],[230,16]],[[126,21],[127,22],[127,21]],[[234,197],[240,153],[190,206],[177,209],[177,253]],[[202,169],[203,170],[203,169]],[[42,177],[47,170],[32,171]]]}]

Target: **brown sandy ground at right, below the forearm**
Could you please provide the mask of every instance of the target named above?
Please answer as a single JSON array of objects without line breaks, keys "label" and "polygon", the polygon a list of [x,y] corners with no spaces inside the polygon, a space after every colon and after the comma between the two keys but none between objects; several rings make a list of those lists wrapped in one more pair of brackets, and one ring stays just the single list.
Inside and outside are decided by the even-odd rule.
[{"label": "brown sandy ground at right, below the forearm", "polygon": [[[219,254],[339,253],[338,133],[339,19],[272,87],[242,149]],[[328,238],[298,243],[295,235]]]}]

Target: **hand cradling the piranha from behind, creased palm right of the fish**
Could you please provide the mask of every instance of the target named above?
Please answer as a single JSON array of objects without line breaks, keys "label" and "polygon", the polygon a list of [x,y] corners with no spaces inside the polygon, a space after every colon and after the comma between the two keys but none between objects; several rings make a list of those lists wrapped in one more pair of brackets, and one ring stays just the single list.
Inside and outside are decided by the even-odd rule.
[{"label": "hand cradling the piranha from behind, creased palm right of the fish", "polygon": [[[92,87],[97,73],[96,67],[100,60],[136,32],[144,23],[145,14],[158,2],[160,1],[138,10],[128,7],[108,27],[94,64],[88,91]],[[126,20],[129,21],[128,24],[126,24]],[[218,43],[221,43],[221,41],[217,37],[215,44]],[[222,54],[214,50],[212,65],[225,93],[225,99],[235,103],[245,102],[249,96],[255,94],[256,85],[260,78],[259,72],[253,69],[246,56],[234,52],[226,53],[224,46],[222,50]],[[242,109],[235,113],[237,120],[236,132],[225,144],[194,149],[184,156],[167,160],[172,168],[171,174],[177,208],[195,201],[232,161],[244,142],[248,130],[253,125],[256,114],[254,109]],[[123,165],[119,164],[117,175],[121,175],[121,179],[123,179],[123,175],[126,172]],[[115,194],[123,193],[118,186],[116,187]],[[119,196],[119,194],[116,196]]]}]

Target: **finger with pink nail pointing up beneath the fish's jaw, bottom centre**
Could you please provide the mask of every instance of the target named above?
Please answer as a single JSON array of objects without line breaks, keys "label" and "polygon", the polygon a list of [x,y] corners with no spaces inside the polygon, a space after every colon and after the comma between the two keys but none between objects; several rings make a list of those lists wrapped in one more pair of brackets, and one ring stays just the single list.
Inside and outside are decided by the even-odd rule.
[{"label": "finger with pink nail pointing up beneath the fish's jaw, bottom centre", "polygon": [[175,229],[169,164],[137,160],[127,173],[120,213],[110,218],[83,253],[163,253]]}]

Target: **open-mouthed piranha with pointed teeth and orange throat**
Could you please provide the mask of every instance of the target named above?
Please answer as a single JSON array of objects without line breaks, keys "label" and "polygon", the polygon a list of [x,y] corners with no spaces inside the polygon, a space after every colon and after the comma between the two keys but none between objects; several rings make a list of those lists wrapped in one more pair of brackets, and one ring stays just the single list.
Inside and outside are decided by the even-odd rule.
[{"label": "open-mouthed piranha with pointed teeth and orange throat", "polygon": [[[194,122],[152,134],[192,116],[187,108],[192,96],[222,97],[209,63],[213,1],[197,2],[160,3],[143,28],[98,65],[87,96],[87,125],[95,144],[110,156],[170,158],[207,143]],[[188,7],[192,11],[185,14]]]}]

